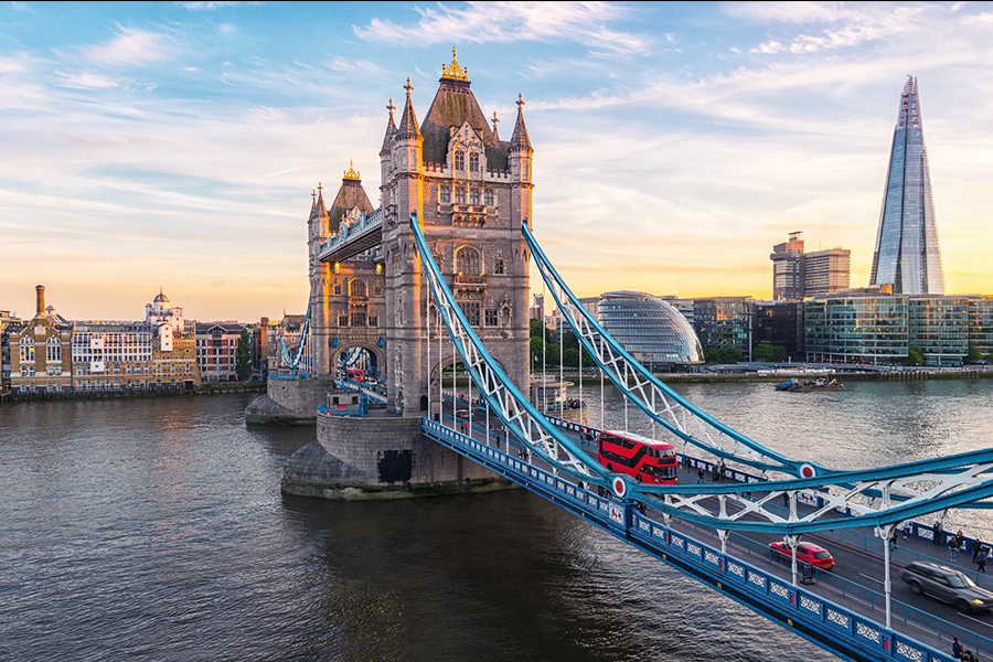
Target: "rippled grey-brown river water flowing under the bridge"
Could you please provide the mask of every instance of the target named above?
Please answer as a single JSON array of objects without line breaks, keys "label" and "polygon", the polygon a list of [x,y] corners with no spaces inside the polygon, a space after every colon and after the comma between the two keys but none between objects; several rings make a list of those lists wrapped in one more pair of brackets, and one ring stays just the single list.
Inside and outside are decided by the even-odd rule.
[{"label": "rippled grey-brown river water flowing under the bridge", "polygon": [[[677,391],[837,468],[984,448],[993,429],[993,380]],[[246,427],[248,401],[0,407],[0,660],[835,660],[523,490],[284,496],[313,428]],[[621,427],[616,392],[605,403]]]}]

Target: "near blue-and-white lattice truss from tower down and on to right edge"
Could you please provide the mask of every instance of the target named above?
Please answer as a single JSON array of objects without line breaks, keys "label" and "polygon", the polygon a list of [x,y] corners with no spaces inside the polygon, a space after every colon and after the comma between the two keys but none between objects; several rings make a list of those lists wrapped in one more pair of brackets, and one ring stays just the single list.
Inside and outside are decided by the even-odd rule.
[{"label": "near blue-and-white lattice truss from tower down and on to right edge", "polygon": [[[989,473],[993,469],[993,449],[882,469],[835,471],[828,476],[776,482],[648,485],[632,483],[627,477],[608,472],[548,423],[503,373],[456,303],[431,258],[416,217],[412,217],[412,232],[437,306],[435,311],[428,308],[428,318],[437,312],[470,378],[508,431],[526,444],[556,474],[562,471],[591,484],[610,485],[616,494],[644,501],[665,516],[675,515],[717,531],[766,531],[797,535],[866,525],[887,527],[885,530],[888,531],[889,526],[903,520],[950,508],[993,506],[982,501],[993,496],[993,476]],[[602,330],[598,333],[601,334],[600,343],[607,344],[605,338],[609,337]],[[620,360],[613,359],[613,364],[622,365],[621,360],[628,361],[621,354]],[[685,412],[686,407],[672,406],[670,410],[675,414]],[[784,459],[799,466],[789,458]],[[622,484],[618,485],[618,482]],[[756,492],[760,495],[752,496]],[[789,505],[786,515],[781,514],[781,509],[773,508],[784,494]],[[819,502],[818,498],[822,501]],[[841,516],[841,511],[848,516]]]}]

